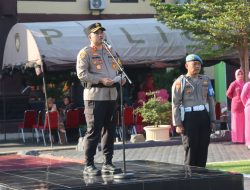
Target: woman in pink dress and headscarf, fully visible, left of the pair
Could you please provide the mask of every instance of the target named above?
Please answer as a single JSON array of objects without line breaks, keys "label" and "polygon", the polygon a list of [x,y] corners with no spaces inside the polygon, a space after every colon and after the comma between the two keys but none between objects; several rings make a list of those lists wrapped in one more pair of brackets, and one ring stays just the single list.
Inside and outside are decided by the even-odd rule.
[{"label": "woman in pink dress and headscarf, fully visible, left of the pair", "polygon": [[240,99],[241,91],[244,86],[244,72],[237,69],[235,72],[235,81],[233,81],[228,90],[227,97],[231,102],[231,137],[233,143],[245,143],[245,114],[244,106]]}]

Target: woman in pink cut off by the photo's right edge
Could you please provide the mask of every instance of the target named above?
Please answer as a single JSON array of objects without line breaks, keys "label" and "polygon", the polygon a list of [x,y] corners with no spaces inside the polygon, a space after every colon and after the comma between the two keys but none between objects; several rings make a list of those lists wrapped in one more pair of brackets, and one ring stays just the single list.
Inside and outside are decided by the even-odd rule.
[{"label": "woman in pink cut off by the photo's right edge", "polygon": [[[250,79],[250,72],[248,73],[248,78]],[[250,82],[244,85],[240,97],[245,106],[245,143],[248,149],[250,149]]]}]

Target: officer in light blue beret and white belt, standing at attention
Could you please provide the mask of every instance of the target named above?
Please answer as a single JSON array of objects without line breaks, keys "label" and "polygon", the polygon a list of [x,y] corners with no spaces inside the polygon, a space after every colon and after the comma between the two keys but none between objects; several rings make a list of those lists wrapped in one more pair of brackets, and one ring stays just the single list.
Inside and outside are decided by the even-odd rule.
[{"label": "officer in light blue beret and white belt, standing at attention", "polygon": [[181,134],[185,150],[184,164],[205,167],[211,129],[214,128],[214,91],[210,79],[200,75],[202,59],[186,57],[186,75],[172,86],[173,125]]}]

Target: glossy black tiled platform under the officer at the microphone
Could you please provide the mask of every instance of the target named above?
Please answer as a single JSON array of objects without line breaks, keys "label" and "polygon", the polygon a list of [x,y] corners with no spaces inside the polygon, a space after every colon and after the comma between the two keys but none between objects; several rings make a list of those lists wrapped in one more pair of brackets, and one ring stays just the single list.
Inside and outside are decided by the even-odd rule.
[{"label": "glossy black tiled platform under the officer at the microphone", "polygon": [[[0,189],[243,190],[241,174],[152,161],[128,161],[126,164],[127,170],[135,176],[121,180],[113,175],[83,176],[79,163],[3,156],[0,157]],[[116,165],[123,167],[123,162]]]}]

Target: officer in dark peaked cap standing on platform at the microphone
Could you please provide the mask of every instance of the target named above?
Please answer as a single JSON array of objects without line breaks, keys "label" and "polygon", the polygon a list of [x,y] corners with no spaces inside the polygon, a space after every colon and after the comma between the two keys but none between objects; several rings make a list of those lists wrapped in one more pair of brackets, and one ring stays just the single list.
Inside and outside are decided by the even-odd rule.
[{"label": "officer in dark peaked cap standing on platform at the microphone", "polygon": [[[87,122],[87,133],[84,139],[86,164],[83,171],[86,175],[100,175],[101,171],[121,172],[121,169],[112,164],[117,100],[114,79],[119,75],[118,67],[108,50],[112,52],[115,59],[118,57],[111,47],[103,44],[104,31],[105,28],[100,23],[91,24],[87,28],[90,45],[80,50],[77,56],[76,71],[84,85],[83,99]],[[125,82],[126,79],[122,79],[122,85]],[[94,164],[94,155],[100,137],[104,154],[101,171]]]}]

